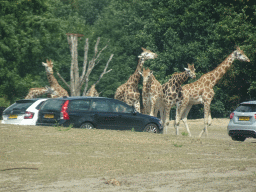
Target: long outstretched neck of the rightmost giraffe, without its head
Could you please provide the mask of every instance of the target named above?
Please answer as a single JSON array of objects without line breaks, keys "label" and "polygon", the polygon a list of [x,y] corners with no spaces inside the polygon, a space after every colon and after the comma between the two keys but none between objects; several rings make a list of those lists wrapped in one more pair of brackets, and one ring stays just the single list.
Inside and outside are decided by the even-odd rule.
[{"label": "long outstretched neck of the rightmost giraffe, without its head", "polygon": [[200,80],[210,81],[209,85],[214,87],[219,80],[226,74],[227,70],[231,67],[235,60],[234,52],[231,53],[219,66],[209,73],[203,75]]}]

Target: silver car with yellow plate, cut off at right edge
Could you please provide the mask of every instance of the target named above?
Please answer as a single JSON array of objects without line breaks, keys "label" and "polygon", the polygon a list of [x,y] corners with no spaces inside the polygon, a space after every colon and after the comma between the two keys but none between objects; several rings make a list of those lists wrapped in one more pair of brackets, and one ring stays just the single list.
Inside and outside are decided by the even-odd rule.
[{"label": "silver car with yellow plate, cut off at right edge", "polygon": [[256,101],[240,103],[239,107],[230,114],[228,135],[235,141],[246,138],[256,138]]}]

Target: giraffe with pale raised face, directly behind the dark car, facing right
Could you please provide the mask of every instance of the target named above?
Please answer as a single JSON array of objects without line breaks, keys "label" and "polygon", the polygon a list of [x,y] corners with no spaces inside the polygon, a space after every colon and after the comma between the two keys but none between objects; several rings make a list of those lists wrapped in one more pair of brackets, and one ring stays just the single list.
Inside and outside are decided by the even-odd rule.
[{"label": "giraffe with pale raised face, directly behind the dark car, facing right", "polygon": [[138,83],[140,80],[139,71],[141,71],[145,60],[155,59],[157,57],[157,54],[150,50],[144,49],[143,47],[142,50],[143,52],[138,56],[139,62],[135,72],[129,77],[127,82],[117,88],[114,97],[130,106],[134,106],[138,112],[140,112],[140,93],[138,90]]}]

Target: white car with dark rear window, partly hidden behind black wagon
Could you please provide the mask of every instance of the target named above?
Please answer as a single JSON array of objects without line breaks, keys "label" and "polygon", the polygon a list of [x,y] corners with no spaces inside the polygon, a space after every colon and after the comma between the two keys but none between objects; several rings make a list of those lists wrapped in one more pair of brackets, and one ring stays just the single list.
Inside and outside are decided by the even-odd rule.
[{"label": "white car with dark rear window, partly hidden behind black wagon", "polygon": [[38,110],[47,99],[22,99],[3,111],[2,124],[36,125]]}]

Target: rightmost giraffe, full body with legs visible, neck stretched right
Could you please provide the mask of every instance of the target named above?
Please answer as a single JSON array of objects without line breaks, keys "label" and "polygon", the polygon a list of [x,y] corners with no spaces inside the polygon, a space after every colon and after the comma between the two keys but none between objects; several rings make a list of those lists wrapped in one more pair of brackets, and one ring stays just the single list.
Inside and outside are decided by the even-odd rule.
[{"label": "rightmost giraffe, full body with legs visible, neck stretched right", "polygon": [[182,87],[183,99],[178,104],[176,109],[176,121],[174,126],[176,128],[176,134],[179,134],[179,122],[182,120],[186,126],[189,136],[191,136],[188,124],[187,116],[193,105],[204,105],[204,129],[199,134],[199,138],[203,133],[208,136],[207,126],[211,125],[212,118],[210,112],[211,101],[214,97],[213,87],[224,76],[227,70],[231,67],[234,60],[250,62],[249,58],[244,54],[239,47],[236,48],[219,66],[214,70],[202,75],[197,81],[184,85]]}]

